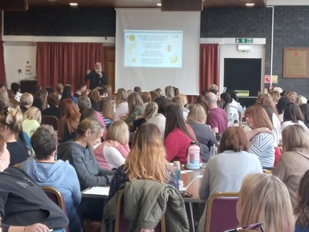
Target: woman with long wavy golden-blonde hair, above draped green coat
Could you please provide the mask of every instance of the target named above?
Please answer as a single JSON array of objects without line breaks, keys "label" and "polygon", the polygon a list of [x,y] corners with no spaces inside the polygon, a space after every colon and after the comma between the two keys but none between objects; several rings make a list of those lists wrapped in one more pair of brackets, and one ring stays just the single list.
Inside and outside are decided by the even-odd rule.
[{"label": "woman with long wavy golden-blonde hair, above draped green coat", "polygon": [[168,183],[178,189],[178,180],[165,157],[166,152],[157,126],[150,123],[141,125],[127,160],[117,169],[110,183],[109,198],[117,193],[120,185],[135,179]]}]

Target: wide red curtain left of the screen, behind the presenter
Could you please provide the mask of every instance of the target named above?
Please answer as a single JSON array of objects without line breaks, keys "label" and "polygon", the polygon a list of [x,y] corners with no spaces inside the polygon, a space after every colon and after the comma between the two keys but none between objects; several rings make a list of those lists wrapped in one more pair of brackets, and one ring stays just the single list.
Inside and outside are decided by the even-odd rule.
[{"label": "wide red curtain left of the screen, behind the presenter", "polygon": [[87,69],[96,62],[103,68],[101,43],[37,43],[36,73],[38,85],[55,87],[58,83],[72,85],[75,91],[84,82]]}]

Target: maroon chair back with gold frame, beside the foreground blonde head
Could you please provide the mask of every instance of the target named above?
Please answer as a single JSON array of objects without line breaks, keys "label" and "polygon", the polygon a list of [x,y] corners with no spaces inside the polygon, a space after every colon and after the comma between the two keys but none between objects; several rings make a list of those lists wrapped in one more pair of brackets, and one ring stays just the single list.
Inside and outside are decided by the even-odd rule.
[{"label": "maroon chair back with gold frame, beside the foreground blonde head", "polygon": [[220,192],[208,198],[206,208],[206,232],[222,232],[236,228],[236,203],[238,193]]}]

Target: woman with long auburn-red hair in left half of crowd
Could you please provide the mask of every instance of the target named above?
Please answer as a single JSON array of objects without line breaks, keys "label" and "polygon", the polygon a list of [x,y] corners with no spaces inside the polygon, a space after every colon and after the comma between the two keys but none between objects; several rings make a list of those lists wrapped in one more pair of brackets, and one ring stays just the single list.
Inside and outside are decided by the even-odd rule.
[{"label": "woman with long auburn-red hair in left half of crowd", "polygon": [[71,99],[62,100],[59,110],[61,117],[58,124],[58,140],[59,143],[64,143],[67,140],[76,138],[80,113]]}]

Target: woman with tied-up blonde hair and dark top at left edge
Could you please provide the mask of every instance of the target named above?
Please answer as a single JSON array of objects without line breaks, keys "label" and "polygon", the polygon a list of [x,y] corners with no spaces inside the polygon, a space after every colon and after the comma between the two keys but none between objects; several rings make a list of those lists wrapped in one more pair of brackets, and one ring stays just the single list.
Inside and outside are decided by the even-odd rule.
[{"label": "woman with tied-up blonde hair and dark top at left edge", "polygon": [[27,145],[16,139],[20,131],[22,131],[22,111],[19,108],[9,107],[3,115],[0,115],[0,134],[10,152],[10,166],[27,159]]}]

